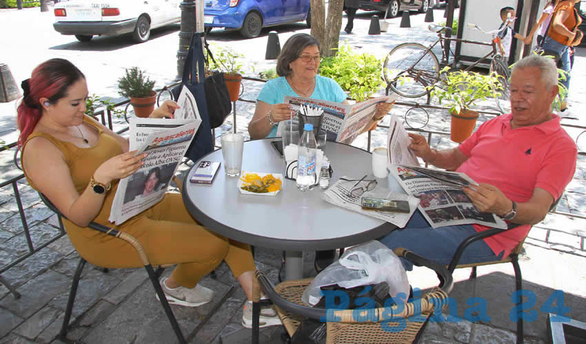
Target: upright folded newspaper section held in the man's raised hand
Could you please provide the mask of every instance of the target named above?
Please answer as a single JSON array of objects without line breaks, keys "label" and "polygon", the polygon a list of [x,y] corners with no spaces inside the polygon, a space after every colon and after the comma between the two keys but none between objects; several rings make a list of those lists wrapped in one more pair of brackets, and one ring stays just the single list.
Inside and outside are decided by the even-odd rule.
[{"label": "upright folded newspaper section held in the man's raised hand", "polygon": [[419,160],[413,151],[407,147],[411,138],[403,123],[399,122],[397,116],[391,116],[389,131],[387,132],[387,161],[389,168],[392,164],[405,164],[419,166]]}]

